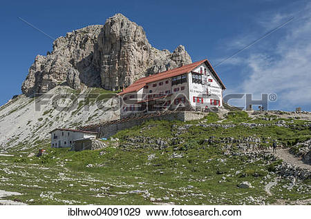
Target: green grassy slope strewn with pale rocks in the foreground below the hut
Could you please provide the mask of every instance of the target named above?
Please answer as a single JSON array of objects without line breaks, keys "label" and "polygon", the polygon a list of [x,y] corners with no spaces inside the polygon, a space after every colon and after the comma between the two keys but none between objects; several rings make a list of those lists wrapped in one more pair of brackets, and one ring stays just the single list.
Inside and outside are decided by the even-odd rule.
[{"label": "green grassy slope strewn with pale rocks in the foreground below the hut", "polygon": [[[206,120],[207,119],[207,120]],[[193,124],[187,132],[179,133],[179,121],[149,121],[116,134],[120,145],[108,141],[109,147],[100,151],[69,152],[68,149],[50,149],[41,158],[28,158],[29,152],[14,157],[0,156],[0,189],[19,191],[17,198],[28,204],[100,204],[100,205],[150,205],[150,198],[162,198],[159,202],[179,205],[200,204],[263,204],[282,199],[311,198],[305,181],[291,191],[283,188],[290,183],[281,179],[272,189],[274,196],[267,196],[265,183],[276,177],[265,160],[250,163],[247,156],[225,155],[225,144],[207,144],[205,138],[257,136],[278,138],[283,143],[294,144],[310,138],[310,129],[303,127],[308,121],[286,121],[301,128],[256,127],[237,125],[234,128],[197,127],[196,124],[216,123],[218,116],[209,114]],[[241,122],[275,123],[274,121],[250,121],[243,112],[229,114],[223,123]],[[174,136],[185,143],[166,149],[154,149],[148,144],[129,143],[137,136],[167,140]],[[102,153],[102,155],[100,155]],[[176,154],[181,158],[173,158]],[[278,162],[273,165],[277,165]],[[93,167],[86,167],[92,164]],[[236,174],[241,171],[241,174]],[[225,178],[225,180],[224,180]],[[254,188],[238,189],[238,183],[249,181]],[[166,198],[164,198],[166,197]],[[164,199],[165,200],[164,200]]]}]

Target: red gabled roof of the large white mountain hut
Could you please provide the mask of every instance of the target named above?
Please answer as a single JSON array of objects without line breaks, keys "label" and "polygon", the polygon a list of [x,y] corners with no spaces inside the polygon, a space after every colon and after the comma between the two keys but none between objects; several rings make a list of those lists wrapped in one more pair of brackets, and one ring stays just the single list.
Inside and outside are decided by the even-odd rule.
[{"label": "red gabled roof of the large white mountain hut", "polygon": [[158,74],[153,74],[153,75],[138,79],[138,81],[135,81],[133,84],[129,85],[129,87],[126,87],[126,89],[120,92],[118,95],[128,94],[131,92],[137,92],[138,90],[142,89],[144,85],[147,85],[147,83],[151,83],[154,81],[160,81],[163,79],[171,78],[173,76],[178,76],[180,74],[186,74],[194,70],[194,68],[196,68],[198,65],[202,63],[205,63],[209,67],[209,70],[211,70],[214,76],[216,76],[216,79],[218,80],[220,85],[223,87],[223,89],[225,89],[225,85],[223,85],[223,82],[220,80],[214,68],[211,67],[211,64],[209,63],[209,61],[207,61],[207,59],[204,59],[202,61],[196,61],[195,63],[191,63],[189,65],[184,65],[182,67],[177,67],[172,70],[167,70],[165,72],[160,72]]}]

